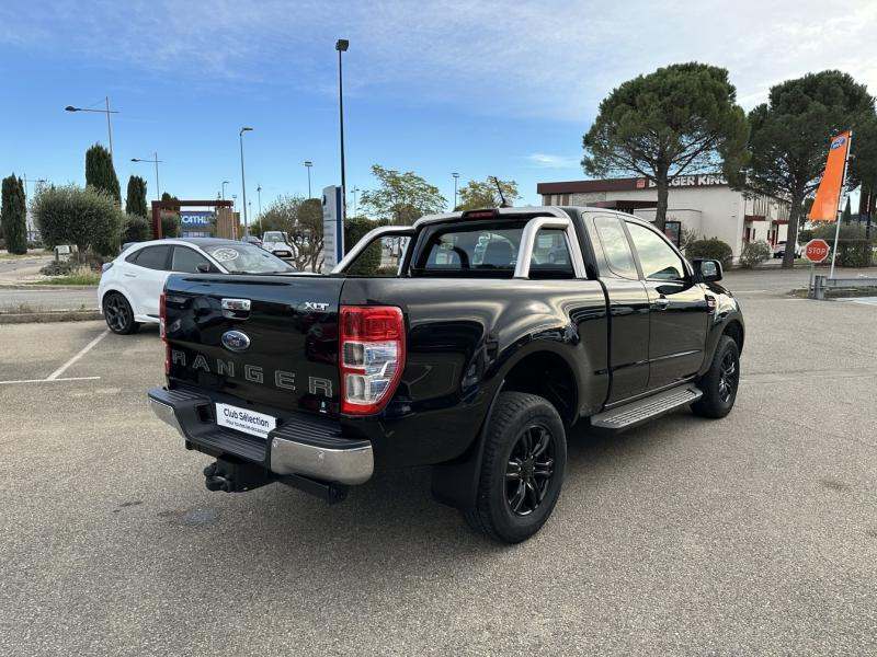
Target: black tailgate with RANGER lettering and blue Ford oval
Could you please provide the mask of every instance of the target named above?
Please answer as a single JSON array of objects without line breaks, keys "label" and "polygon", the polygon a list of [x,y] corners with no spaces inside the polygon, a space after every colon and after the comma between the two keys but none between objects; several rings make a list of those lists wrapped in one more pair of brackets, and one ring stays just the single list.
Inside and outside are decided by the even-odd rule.
[{"label": "black tailgate with RANGER lettering and blue Ford oval", "polygon": [[172,275],[170,381],[241,405],[335,415],[342,278]]}]

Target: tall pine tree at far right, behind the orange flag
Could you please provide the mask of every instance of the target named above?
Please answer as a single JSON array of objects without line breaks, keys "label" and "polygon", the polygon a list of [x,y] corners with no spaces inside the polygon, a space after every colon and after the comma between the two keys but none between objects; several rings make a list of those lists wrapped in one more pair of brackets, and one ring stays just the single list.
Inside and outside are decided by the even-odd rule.
[{"label": "tall pine tree at far right, behind the orange flag", "polygon": [[[805,198],[819,185],[829,139],[874,116],[874,99],[864,84],[841,71],[808,73],[771,88],[768,101],[752,110],[747,186],[790,200],[786,240],[795,244]],[[855,141],[853,142],[855,146]],[[795,250],[786,249],[783,267]]]}]

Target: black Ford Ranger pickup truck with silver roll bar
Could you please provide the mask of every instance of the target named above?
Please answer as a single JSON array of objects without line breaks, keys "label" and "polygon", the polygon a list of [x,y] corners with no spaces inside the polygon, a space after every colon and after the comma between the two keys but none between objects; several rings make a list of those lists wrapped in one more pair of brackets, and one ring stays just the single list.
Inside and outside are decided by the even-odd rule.
[{"label": "black Ford Ranger pickup truck with silver roll bar", "polygon": [[[387,242],[398,268],[377,276]],[[172,275],[149,404],[216,459],[210,489],[334,502],[377,470],[432,465],[438,500],[517,542],[558,500],[577,423],[730,412],[744,326],[720,279],[611,210],[423,217],[326,276]]]}]

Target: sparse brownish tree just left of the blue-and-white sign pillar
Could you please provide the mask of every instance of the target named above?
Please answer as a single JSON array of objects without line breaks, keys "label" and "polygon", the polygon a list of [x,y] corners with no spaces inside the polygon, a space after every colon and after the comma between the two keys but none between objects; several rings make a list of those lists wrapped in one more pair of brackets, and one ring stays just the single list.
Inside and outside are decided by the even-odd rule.
[{"label": "sparse brownish tree just left of the blue-and-white sign pillar", "polygon": [[322,204],[319,198],[281,196],[262,214],[262,227],[284,230],[293,246],[296,268],[318,272],[324,262],[322,256]]}]

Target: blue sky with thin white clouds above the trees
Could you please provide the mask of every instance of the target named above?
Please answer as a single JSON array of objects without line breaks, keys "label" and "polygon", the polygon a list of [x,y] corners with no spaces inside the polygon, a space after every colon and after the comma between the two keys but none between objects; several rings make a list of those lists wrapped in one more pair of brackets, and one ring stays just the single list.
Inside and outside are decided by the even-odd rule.
[{"label": "blue sky with thin white clouds above the trees", "polygon": [[[110,96],[123,196],[155,169],[161,192],[241,203],[340,182],[338,53],[343,55],[349,207],[372,164],[414,171],[448,204],[452,172],[536,184],[584,177],[581,139],[613,88],[669,64],[725,67],[750,110],[772,84],[841,69],[877,94],[874,0],[591,2],[542,0],[3,0],[0,173],[84,183],[106,145]],[[31,183],[30,186],[33,186]],[[240,206],[239,206],[240,207]]]}]

